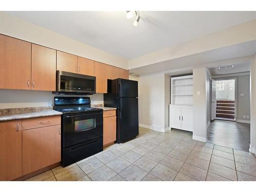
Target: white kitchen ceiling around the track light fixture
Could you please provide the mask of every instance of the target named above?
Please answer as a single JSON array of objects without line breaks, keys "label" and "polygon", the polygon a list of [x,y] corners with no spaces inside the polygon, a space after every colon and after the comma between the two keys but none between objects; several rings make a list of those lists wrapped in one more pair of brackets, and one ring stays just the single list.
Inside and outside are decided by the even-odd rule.
[{"label": "white kitchen ceiling around the track light fixture", "polygon": [[35,25],[55,31],[95,48],[127,59],[180,44],[256,19],[256,12],[233,11],[8,11]]}]

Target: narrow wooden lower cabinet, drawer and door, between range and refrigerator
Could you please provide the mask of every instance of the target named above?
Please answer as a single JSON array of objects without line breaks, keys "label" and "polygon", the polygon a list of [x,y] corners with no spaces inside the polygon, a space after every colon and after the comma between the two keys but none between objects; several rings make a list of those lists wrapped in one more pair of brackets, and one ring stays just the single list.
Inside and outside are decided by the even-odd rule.
[{"label": "narrow wooden lower cabinet, drawer and door, between range and refrigerator", "polygon": [[103,146],[116,141],[116,110],[103,112]]}]

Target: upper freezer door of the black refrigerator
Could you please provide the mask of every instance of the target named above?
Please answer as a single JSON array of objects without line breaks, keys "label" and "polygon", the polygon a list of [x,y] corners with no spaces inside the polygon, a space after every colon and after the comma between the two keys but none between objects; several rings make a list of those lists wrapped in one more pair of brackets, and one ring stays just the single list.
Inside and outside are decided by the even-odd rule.
[{"label": "upper freezer door of the black refrigerator", "polygon": [[138,81],[118,79],[118,97],[138,97]]}]

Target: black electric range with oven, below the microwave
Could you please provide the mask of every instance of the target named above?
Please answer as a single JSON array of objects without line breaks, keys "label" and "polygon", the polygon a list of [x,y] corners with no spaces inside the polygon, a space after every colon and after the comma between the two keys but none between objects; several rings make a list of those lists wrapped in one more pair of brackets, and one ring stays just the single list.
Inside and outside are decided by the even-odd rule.
[{"label": "black electric range with oven, below the microwave", "polygon": [[90,97],[54,97],[61,116],[61,165],[68,166],[103,151],[103,110]]}]

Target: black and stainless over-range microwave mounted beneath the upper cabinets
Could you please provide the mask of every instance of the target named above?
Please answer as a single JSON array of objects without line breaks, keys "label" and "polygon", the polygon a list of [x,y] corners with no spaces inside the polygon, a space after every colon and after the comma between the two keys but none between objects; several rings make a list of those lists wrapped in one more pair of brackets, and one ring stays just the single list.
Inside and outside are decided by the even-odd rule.
[{"label": "black and stainless over-range microwave mounted beneath the upper cabinets", "polygon": [[56,91],[54,94],[91,95],[96,92],[96,77],[66,71],[56,73]]}]

